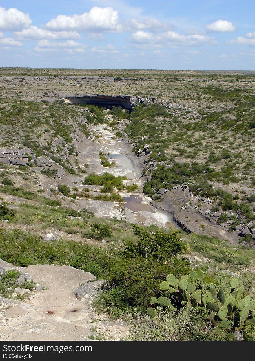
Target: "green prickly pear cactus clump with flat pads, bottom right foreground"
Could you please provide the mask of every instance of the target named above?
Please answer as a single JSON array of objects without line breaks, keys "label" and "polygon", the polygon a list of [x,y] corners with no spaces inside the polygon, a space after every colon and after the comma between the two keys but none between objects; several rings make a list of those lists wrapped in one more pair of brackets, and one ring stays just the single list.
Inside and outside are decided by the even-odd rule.
[{"label": "green prickly pear cactus clump with flat pads, bottom right foreground", "polygon": [[[193,308],[204,307],[209,312],[209,317],[215,325],[224,329],[242,329],[245,325],[255,323],[255,300],[250,296],[243,297],[244,287],[239,286],[236,278],[231,284],[224,284],[216,291],[216,285],[203,283],[204,274],[201,270],[191,271],[187,276],[181,276],[180,280],[173,274],[169,274],[166,281],[161,282],[160,290],[165,294],[168,291],[175,299],[176,307],[173,307],[168,297],[151,297],[150,304],[159,304],[169,307],[178,312],[183,307],[183,301],[190,303]],[[242,298],[243,297],[243,298]],[[150,307],[148,315],[157,317],[157,311]],[[219,321],[220,320],[220,321]]]}]

